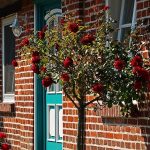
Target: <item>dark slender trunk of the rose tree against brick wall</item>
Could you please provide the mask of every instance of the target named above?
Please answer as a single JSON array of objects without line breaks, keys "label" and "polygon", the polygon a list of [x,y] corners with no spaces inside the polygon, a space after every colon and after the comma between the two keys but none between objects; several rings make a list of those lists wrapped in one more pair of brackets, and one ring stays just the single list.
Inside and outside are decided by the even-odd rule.
[{"label": "dark slender trunk of the rose tree against brick wall", "polygon": [[78,109],[78,136],[77,136],[77,150],[85,150],[85,107]]}]

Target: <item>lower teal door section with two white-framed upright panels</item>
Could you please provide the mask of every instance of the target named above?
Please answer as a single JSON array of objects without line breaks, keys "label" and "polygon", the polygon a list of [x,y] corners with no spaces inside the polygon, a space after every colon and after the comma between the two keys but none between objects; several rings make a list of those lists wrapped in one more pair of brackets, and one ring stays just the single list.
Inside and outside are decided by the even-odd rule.
[{"label": "lower teal door section with two white-framed upright panels", "polygon": [[47,104],[47,150],[62,150],[62,104]]}]

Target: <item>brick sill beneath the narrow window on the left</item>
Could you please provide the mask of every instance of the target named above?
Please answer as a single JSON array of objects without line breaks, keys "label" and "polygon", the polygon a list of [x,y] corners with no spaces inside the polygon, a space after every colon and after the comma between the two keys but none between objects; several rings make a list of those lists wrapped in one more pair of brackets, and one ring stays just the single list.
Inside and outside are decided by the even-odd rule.
[{"label": "brick sill beneath the narrow window on the left", "polygon": [[15,111],[15,103],[0,103],[0,112],[14,112]]}]

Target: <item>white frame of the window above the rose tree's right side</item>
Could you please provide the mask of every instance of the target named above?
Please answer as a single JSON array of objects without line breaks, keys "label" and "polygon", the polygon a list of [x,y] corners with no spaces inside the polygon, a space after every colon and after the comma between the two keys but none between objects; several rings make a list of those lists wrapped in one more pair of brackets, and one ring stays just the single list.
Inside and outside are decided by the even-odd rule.
[{"label": "white frame of the window above the rose tree's right side", "polygon": [[[122,29],[131,27],[131,31],[135,28],[136,24],[136,4],[137,0],[134,0],[134,8],[133,8],[133,14],[132,14],[132,22],[123,24],[123,13],[124,13],[124,6],[125,6],[125,1],[126,0],[121,0],[121,13],[120,13],[120,18],[119,18],[119,31],[118,31],[118,36],[117,40],[120,41],[122,38]],[[109,0],[105,0],[105,5],[109,5]],[[108,16],[106,16],[106,19],[108,19]]]}]

